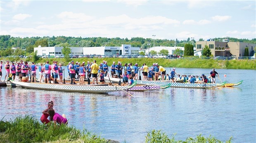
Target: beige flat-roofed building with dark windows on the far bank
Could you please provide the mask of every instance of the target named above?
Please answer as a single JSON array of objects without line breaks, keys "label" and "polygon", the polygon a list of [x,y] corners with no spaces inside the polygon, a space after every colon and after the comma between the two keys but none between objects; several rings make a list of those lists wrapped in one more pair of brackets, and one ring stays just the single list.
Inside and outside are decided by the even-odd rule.
[{"label": "beige flat-roofed building with dark windows on the far bank", "polygon": [[209,46],[211,49],[211,54],[216,56],[244,56],[244,49],[249,48],[249,56],[254,55],[254,47],[256,44],[243,43],[243,42],[228,42],[229,40],[225,39],[223,42],[218,41],[197,41],[196,42],[196,51],[202,50],[205,45]]}]

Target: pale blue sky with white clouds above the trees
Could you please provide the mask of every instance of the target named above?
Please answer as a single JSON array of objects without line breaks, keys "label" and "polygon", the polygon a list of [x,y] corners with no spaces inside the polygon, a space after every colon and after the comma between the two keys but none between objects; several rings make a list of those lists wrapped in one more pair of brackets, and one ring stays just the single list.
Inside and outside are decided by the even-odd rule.
[{"label": "pale blue sky with white clouds above the trees", "polygon": [[256,0],[0,0],[0,35],[253,39]]}]

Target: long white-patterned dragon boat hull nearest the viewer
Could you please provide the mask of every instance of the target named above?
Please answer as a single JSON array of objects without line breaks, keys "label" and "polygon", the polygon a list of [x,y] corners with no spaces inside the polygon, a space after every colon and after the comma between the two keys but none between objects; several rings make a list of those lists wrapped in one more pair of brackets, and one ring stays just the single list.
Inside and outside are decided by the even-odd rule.
[{"label": "long white-patterned dragon boat hull nearest the viewer", "polygon": [[37,90],[55,90],[55,91],[87,92],[87,93],[108,93],[108,92],[115,92],[119,90],[127,90],[137,84],[137,81],[135,81],[132,85],[128,85],[128,86],[28,83],[28,82],[20,82],[20,81],[10,81],[10,82],[24,88],[31,88],[31,89],[37,89]]}]

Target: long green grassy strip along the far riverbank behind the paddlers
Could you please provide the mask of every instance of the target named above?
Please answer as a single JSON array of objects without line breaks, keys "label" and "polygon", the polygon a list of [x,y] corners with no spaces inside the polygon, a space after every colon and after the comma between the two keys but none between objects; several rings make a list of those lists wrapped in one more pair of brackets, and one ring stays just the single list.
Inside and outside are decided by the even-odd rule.
[{"label": "long green grassy strip along the far riverbank behind the paddlers", "polygon": [[[1,60],[7,60],[1,59]],[[20,59],[8,59],[10,61],[17,61]],[[22,60],[28,60],[32,62],[31,58],[28,59],[22,59]],[[180,67],[180,68],[203,68],[203,69],[256,69],[256,60],[213,60],[213,59],[151,59],[151,58],[78,58],[78,59],[70,59],[70,61],[66,61],[64,58],[41,58],[37,61],[37,63],[45,63],[47,60],[52,63],[53,60],[57,60],[58,62],[63,63],[63,65],[67,65],[71,60],[74,60],[75,62],[85,62],[87,61],[92,62],[93,60],[97,60],[97,63],[102,62],[103,60],[106,60],[108,62],[108,65],[110,66],[113,61],[116,63],[118,61],[121,61],[124,65],[125,63],[138,63],[139,66],[141,66],[143,63],[146,63],[147,65],[152,65],[153,63],[157,62],[159,65],[163,67]]]}]

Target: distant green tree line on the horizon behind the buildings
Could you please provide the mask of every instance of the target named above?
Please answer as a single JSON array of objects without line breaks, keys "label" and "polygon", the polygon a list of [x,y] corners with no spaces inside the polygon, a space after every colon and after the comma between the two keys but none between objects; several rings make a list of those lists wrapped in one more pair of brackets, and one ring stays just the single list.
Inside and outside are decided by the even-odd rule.
[{"label": "distant green tree line on the horizon behind the buildings", "polygon": [[[215,41],[222,41],[225,38],[214,38]],[[256,38],[254,39],[237,39],[229,37],[230,42],[247,42],[256,44]],[[204,41],[204,39],[199,39]],[[194,39],[187,38],[187,40],[169,40],[169,39],[152,39],[133,37],[128,38],[107,38],[107,37],[65,37],[65,36],[52,36],[52,37],[11,37],[11,35],[0,35],[0,55],[30,55],[34,51],[34,47],[39,45],[42,47],[47,46],[62,46],[62,47],[96,47],[96,46],[121,46],[121,44],[130,44],[133,47],[140,47],[141,49],[147,49],[155,46],[177,46],[185,47],[185,44],[195,46],[196,41]],[[17,50],[12,50],[12,47],[18,47]],[[164,53],[164,51],[163,51]],[[180,50],[177,49],[177,55],[182,55]],[[184,53],[185,55],[185,53]]]}]

